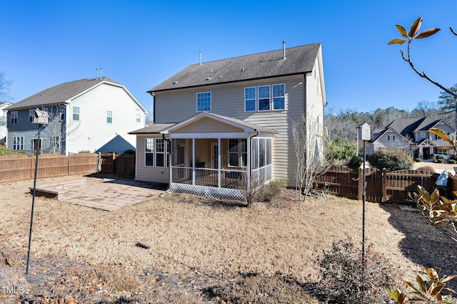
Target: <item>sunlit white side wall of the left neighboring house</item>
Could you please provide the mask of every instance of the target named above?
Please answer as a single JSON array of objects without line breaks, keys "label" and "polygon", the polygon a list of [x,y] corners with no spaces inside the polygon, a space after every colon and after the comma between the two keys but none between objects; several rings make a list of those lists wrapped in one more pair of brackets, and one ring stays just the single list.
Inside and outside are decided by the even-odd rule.
[{"label": "sunlit white side wall of the left neighboring house", "polygon": [[[139,108],[123,88],[101,84],[71,100],[67,105],[69,133],[67,152],[81,150],[95,152],[116,137],[116,145],[124,152],[125,147],[135,148],[135,135],[128,132],[144,127],[144,111]],[[73,107],[79,107],[79,121],[73,120]],[[112,112],[112,122],[106,122],[107,111]],[[141,122],[136,122],[136,115]],[[112,146],[111,146],[112,147]]]}]

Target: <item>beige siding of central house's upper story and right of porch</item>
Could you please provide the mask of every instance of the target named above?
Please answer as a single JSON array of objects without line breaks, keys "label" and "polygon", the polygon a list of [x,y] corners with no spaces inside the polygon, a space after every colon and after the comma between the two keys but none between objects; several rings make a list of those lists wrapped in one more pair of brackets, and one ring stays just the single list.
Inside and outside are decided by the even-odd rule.
[{"label": "beige siding of central house's upper story and right of porch", "polygon": [[[309,78],[309,76],[307,76]],[[286,85],[285,110],[244,111],[244,88],[261,85]],[[289,186],[295,187],[296,157],[293,152],[292,121],[298,121],[304,111],[306,82],[303,75],[281,78],[251,80],[225,85],[211,85],[205,88],[179,90],[179,92],[156,93],[156,122],[179,122],[196,114],[196,93],[211,91],[211,112],[253,122],[279,132],[273,137],[272,162],[273,179],[288,179]],[[308,88],[316,92],[316,88]],[[316,95],[316,94],[314,94]],[[318,98],[313,98],[317,103]],[[322,106],[321,106],[322,108]],[[320,111],[323,122],[323,111]],[[208,132],[207,127],[199,128]]]}]

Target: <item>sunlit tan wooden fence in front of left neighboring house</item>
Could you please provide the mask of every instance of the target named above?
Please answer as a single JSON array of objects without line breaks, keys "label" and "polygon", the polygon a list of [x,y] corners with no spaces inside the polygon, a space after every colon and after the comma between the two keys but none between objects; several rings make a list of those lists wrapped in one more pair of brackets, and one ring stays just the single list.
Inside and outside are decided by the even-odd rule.
[{"label": "sunlit tan wooden fence in front of left neighboring house", "polygon": [[[97,172],[99,154],[79,153],[73,155],[39,155],[37,178],[61,177],[71,174],[91,174]],[[36,157],[7,155],[0,157],[0,182],[14,182],[33,179]]]}]

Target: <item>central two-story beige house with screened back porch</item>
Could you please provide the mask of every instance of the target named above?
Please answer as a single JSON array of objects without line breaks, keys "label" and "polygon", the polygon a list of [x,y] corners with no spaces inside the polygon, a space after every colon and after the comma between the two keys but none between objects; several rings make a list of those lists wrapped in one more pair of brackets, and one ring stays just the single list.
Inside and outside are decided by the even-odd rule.
[{"label": "central two-story beige house with screened back porch", "polygon": [[197,63],[148,93],[155,124],[131,132],[136,179],[232,198],[243,180],[296,187],[293,122],[323,132],[321,44]]}]

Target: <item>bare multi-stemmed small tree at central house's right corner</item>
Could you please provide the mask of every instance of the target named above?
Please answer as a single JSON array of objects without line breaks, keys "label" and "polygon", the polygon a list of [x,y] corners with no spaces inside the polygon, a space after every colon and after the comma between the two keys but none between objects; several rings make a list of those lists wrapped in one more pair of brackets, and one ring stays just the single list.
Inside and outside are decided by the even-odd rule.
[{"label": "bare multi-stemmed small tree at central house's right corner", "polygon": [[296,182],[300,190],[300,201],[304,201],[317,177],[324,174],[331,165],[331,157],[324,152],[329,139],[323,130],[319,130],[318,120],[307,119],[304,114],[300,120],[292,122],[292,135],[297,162]]}]

